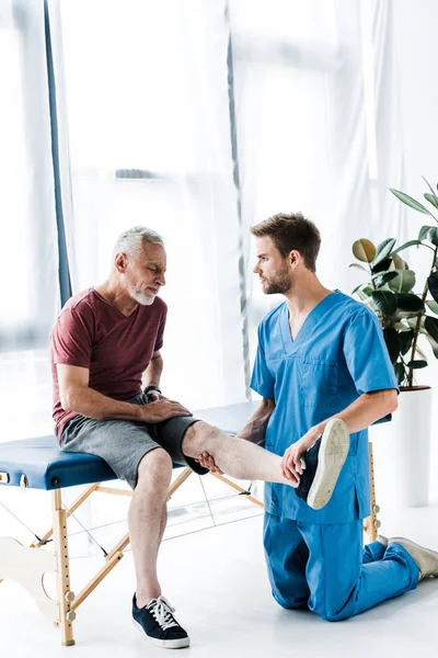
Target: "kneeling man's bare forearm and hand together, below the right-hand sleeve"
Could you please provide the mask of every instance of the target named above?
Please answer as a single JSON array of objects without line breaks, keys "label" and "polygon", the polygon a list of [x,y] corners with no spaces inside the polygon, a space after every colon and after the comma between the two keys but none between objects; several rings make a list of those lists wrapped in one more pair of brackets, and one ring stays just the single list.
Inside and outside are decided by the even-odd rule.
[{"label": "kneeling man's bare forearm and hand together, below the right-hand sleeve", "polygon": [[397,408],[397,392],[395,388],[385,388],[364,393],[351,405],[339,413],[331,416],[323,422],[311,428],[297,443],[293,443],[285,452],[281,469],[285,477],[292,479],[302,474],[300,457],[315,443],[325,430],[325,426],[332,418],[341,418],[348,428],[350,434],[367,429],[377,420]]}]

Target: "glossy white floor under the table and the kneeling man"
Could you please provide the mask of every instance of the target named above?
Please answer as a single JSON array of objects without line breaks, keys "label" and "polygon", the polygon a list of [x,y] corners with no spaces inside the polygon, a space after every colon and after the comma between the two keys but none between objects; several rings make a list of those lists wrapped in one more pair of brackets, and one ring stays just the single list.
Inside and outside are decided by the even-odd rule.
[{"label": "glossy white floor under the table and the kneeling man", "polygon": [[[404,534],[438,548],[438,506],[381,514],[385,534]],[[192,647],[205,658],[369,657],[438,655],[438,579],[357,617],[330,624],[310,612],[284,611],[273,601],[262,551],[262,517],[169,538],[161,552],[163,592],[177,608]],[[72,589],[100,568],[97,554],[72,559]],[[83,603],[74,622],[77,644],[64,648],[59,632],[27,593],[0,586],[0,653],[8,657],[134,658],[163,656],[131,625],[130,553]],[[76,585],[78,583],[78,585]]]}]

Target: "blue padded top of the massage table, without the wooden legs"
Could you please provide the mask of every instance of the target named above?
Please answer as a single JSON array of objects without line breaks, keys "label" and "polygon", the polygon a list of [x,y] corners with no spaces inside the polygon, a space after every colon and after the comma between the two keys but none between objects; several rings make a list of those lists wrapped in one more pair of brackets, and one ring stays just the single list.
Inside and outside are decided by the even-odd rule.
[{"label": "blue padded top of the massage table, without the wooden legs", "polygon": [[[224,432],[242,428],[257,402],[242,402],[195,411],[194,416]],[[110,466],[94,455],[65,453],[54,435],[0,443],[0,473],[9,475],[9,486],[20,486],[23,475],[33,489],[61,489],[116,479]]]}]

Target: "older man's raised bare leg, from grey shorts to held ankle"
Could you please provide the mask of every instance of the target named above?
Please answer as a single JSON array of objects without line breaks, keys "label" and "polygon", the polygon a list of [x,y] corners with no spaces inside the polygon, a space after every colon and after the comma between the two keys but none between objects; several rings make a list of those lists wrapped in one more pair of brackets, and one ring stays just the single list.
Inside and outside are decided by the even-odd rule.
[{"label": "older man's raised bare leg, from grey shorts to held ankle", "polygon": [[297,487],[281,475],[281,457],[239,436],[229,436],[207,422],[191,426],[183,439],[183,453],[198,457],[210,454],[223,473],[238,479],[258,479]]}]

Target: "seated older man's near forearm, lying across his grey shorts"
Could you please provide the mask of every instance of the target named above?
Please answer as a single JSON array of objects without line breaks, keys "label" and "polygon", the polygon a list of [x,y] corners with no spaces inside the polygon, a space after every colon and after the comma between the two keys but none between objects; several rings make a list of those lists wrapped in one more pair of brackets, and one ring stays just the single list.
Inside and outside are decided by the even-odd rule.
[{"label": "seated older man's near forearm, lying across his grey shorts", "polygon": [[[94,420],[115,418],[118,420],[140,420],[139,405],[114,400],[88,386],[77,386],[66,394],[67,400],[61,401],[66,411],[74,411]],[[66,408],[67,407],[67,408]]]}]

